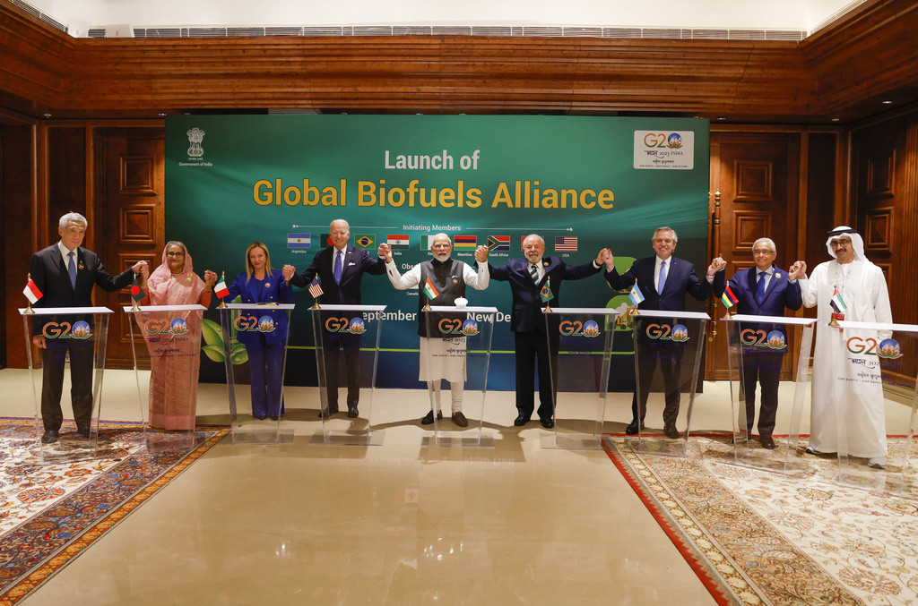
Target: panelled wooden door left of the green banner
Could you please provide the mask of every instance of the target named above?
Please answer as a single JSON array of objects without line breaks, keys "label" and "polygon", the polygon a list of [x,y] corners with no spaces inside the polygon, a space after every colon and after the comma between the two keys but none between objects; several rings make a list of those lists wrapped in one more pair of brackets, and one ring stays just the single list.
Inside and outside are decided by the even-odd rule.
[{"label": "panelled wooden door left of the green banner", "polygon": [[[159,264],[165,245],[165,133],[162,128],[100,128],[95,132],[95,247],[111,273],[139,260]],[[101,292],[101,291],[100,291]],[[109,368],[131,368],[128,289],[96,295],[115,310],[108,326]],[[135,335],[137,330],[134,330]]]}]

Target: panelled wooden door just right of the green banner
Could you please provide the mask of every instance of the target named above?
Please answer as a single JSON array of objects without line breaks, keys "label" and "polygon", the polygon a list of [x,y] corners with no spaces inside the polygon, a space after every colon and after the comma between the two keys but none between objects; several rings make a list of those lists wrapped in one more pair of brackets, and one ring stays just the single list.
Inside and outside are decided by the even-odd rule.
[{"label": "panelled wooden door just right of the green banner", "polygon": [[[778,267],[787,270],[796,260],[799,141],[790,133],[711,133],[711,252],[727,261],[727,278],[755,265],[759,237],[775,241]],[[725,380],[722,303],[713,301],[711,312],[705,376]]]}]

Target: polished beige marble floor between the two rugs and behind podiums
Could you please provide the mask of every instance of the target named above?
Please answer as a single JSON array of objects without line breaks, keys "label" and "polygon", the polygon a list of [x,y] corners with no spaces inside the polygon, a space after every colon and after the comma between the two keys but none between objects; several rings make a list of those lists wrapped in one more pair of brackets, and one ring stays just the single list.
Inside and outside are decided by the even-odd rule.
[{"label": "polished beige marble floor between the two rugs and behind podiums", "polygon": [[[3,415],[33,413],[27,370],[0,385]],[[705,383],[693,427],[729,429],[727,385]],[[137,400],[133,371],[106,370],[103,418]],[[225,438],[22,603],[714,603],[606,454],[513,427],[512,393],[487,395],[493,447],[426,446],[426,391],[375,392],[381,446],[317,445],[316,391],[286,401],[292,444]],[[629,406],[610,396],[607,419]],[[201,385],[198,422],[227,421],[225,386]]]}]

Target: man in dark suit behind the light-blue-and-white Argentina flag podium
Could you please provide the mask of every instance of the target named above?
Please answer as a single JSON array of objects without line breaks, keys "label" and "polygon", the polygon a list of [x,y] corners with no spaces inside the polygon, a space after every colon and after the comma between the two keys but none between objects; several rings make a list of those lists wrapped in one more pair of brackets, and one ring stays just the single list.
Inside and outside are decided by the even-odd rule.
[{"label": "man in dark suit behind the light-blue-and-white Argentina flag podium", "polygon": [[[644,293],[640,309],[653,309],[667,312],[682,312],[686,307],[686,294],[691,294],[699,301],[704,301],[711,294],[711,282],[717,270],[726,264],[718,257],[711,261],[708,268],[708,279],[700,280],[695,275],[695,266],[685,259],[673,257],[678,236],[670,227],[658,227],[651,243],[656,255],[634,261],[630,270],[619,274],[614,267],[606,272],[606,281],[617,291],[630,289],[634,282]],[[628,435],[635,435],[644,427],[644,415],[647,413],[647,394],[650,391],[654,372],[659,365],[663,375],[666,392],[666,407],[663,412],[663,431],[666,437],[677,438],[676,419],[679,413],[679,370],[682,356],[681,347],[674,347],[671,341],[642,342],[639,354],[634,360],[639,365],[639,383],[632,399],[633,420],[625,429]],[[638,407],[640,394],[640,408]]]}]

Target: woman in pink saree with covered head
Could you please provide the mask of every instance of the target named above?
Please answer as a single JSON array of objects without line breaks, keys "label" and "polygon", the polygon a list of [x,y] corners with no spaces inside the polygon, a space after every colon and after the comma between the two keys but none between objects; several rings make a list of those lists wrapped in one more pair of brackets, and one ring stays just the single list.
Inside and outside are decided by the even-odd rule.
[{"label": "woman in pink saree with covered head", "polygon": [[[194,272],[191,255],[181,242],[169,242],[162,249],[162,264],[148,277],[140,274],[140,286],[147,293],[142,305],[192,305],[207,307],[217,274],[204,272],[201,280]],[[151,314],[137,314],[146,322]],[[145,316],[141,319],[140,316]],[[197,377],[201,357],[201,317],[199,311],[171,312],[168,319],[185,320],[187,332],[151,336],[142,331],[150,348],[150,426],[158,429],[195,428]],[[162,314],[160,314],[162,317]],[[167,352],[166,355],[156,353]]]}]

